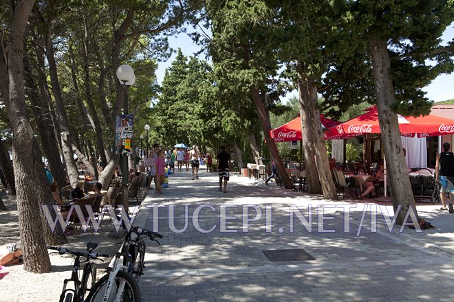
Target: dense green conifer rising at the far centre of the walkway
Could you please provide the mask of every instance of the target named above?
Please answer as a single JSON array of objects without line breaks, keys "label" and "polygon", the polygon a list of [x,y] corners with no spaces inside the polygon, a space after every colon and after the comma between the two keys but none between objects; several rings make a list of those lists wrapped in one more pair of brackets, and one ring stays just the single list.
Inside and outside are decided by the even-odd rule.
[{"label": "dense green conifer rising at the far centre of the walkway", "polygon": [[156,120],[153,139],[166,146],[216,146],[226,125],[214,82],[207,62],[195,57],[188,60],[179,50],[166,70],[159,102],[151,111]]}]

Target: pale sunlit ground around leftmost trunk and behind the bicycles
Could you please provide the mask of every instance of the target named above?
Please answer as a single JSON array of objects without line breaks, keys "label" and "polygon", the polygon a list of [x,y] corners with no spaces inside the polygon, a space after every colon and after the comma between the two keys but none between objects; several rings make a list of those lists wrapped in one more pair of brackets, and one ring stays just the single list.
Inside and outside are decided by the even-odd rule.
[{"label": "pale sunlit ground around leftmost trunk and behind the bicycles", "polygon": [[[19,242],[16,201],[11,198],[3,201],[10,211],[0,211],[0,253],[6,252],[6,245],[11,242]],[[130,209],[132,208],[130,207]],[[107,227],[107,221],[103,224],[105,227],[93,235],[88,230],[87,233],[78,231],[77,235],[67,236],[68,243],[64,246],[74,251],[85,251],[87,242],[96,242],[98,248],[95,251],[114,255],[122,243],[122,237],[109,236],[114,228]],[[6,271],[9,273],[0,280],[0,302],[58,301],[63,288],[63,280],[71,277],[74,258],[70,255],[50,255],[50,262],[52,272],[45,274],[25,272],[22,265],[6,267]],[[105,259],[105,262],[96,260],[97,279],[104,275],[109,262],[110,259]],[[81,275],[82,272],[79,271],[79,278]]]}]

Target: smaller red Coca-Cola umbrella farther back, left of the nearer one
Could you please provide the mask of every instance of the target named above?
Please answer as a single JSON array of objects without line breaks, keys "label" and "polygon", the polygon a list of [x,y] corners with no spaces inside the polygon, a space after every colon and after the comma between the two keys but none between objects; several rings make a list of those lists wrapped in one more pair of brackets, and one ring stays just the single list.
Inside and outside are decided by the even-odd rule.
[{"label": "smaller red Coca-Cola umbrella farther back, left of the nearer one", "polygon": [[[320,115],[321,123],[324,128],[332,128],[338,124],[338,121],[333,121],[331,119],[327,119]],[[283,124],[275,129],[270,130],[270,136],[274,141],[281,142],[281,141],[301,141],[301,117],[296,117],[296,119],[292,119],[287,124]]]}]

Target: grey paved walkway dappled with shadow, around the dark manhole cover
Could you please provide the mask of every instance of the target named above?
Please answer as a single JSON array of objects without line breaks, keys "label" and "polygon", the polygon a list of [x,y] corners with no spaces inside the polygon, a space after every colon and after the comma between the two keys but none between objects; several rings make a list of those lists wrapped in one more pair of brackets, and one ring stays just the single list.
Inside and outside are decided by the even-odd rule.
[{"label": "grey paved walkway dappled with shadow, around the dark manhole cover", "polygon": [[[142,203],[136,224],[147,229],[154,224],[164,235],[161,246],[147,242],[140,279],[144,301],[453,301],[454,239],[448,220],[454,215],[442,214],[443,230],[420,234],[407,229],[400,234],[389,232],[380,213],[374,233],[369,212],[361,223],[364,204],[284,195],[281,189],[238,176],[230,177],[224,194],[217,190],[217,174],[199,176],[192,181],[190,174],[177,172],[164,194],[149,190]],[[214,211],[205,207],[193,220],[195,209],[204,204]],[[165,206],[158,215],[147,208],[156,205]],[[311,213],[312,223],[303,227],[295,218],[291,232],[292,205],[307,220]],[[340,208],[345,205],[356,206],[349,224]],[[262,217],[249,222],[246,232],[244,221],[256,217],[252,206],[260,207]],[[221,215],[223,207],[228,207],[226,215]],[[225,216],[230,218],[226,230],[233,232],[221,231]],[[186,230],[171,231],[184,229],[186,222]],[[201,233],[197,222],[202,229],[215,229]],[[334,232],[320,232],[326,230]],[[303,248],[315,260],[271,262],[263,253],[294,248]]]}]

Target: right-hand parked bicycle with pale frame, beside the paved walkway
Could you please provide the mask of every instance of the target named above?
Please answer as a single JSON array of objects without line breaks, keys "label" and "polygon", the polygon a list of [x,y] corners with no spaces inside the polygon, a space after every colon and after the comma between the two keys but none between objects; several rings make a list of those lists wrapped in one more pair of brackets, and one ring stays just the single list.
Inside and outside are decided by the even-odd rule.
[{"label": "right-hand parked bicycle with pale frame, beside the paved walkway", "polygon": [[[159,233],[131,227],[125,235],[125,242],[120,252],[116,253],[114,257],[112,266],[106,269],[107,274],[90,290],[87,301],[142,301],[138,277],[142,275],[144,268],[145,242],[142,239],[143,236],[148,236],[153,241],[157,241],[155,237],[162,238]],[[120,264],[120,258],[123,258],[122,264]]]}]

